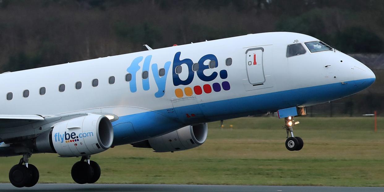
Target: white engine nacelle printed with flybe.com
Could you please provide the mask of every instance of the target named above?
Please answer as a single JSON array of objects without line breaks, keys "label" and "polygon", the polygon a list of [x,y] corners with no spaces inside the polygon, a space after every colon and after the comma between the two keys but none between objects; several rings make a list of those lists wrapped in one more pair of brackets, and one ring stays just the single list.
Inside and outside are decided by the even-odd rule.
[{"label": "white engine nacelle printed with flybe.com", "polygon": [[112,142],[111,121],[103,115],[88,114],[55,124],[51,132],[36,138],[35,148],[61,157],[79,157],[103,152]]}]

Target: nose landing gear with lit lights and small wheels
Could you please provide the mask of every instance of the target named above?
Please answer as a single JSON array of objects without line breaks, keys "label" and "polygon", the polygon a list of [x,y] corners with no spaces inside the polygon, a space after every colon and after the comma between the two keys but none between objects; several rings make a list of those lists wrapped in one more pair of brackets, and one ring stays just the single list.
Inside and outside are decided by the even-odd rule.
[{"label": "nose landing gear with lit lights and small wheels", "polygon": [[293,117],[287,117],[285,118],[285,126],[283,126],[283,129],[285,128],[287,131],[287,140],[285,141],[285,147],[289,151],[300,151],[303,146],[304,142],[303,139],[300,137],[293,136],[293,126],[299,124],[300,122],[294,121]]}]

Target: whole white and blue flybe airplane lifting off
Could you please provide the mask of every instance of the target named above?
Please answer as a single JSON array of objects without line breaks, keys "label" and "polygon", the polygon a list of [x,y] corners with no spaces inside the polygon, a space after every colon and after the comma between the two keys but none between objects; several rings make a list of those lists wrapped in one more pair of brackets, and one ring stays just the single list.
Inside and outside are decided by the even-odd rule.
[{"label": "whole white and blue flybe airplane lifting off", "polygon": [[[374,83],[364,64],[300,33],[270,32],[0,74],[0,156],[22,156],[9,172],[32,187],[32,154],[81,157],[71,176],[94,183],[91,155],[131,144],[154,152],[192,149],[207,122],[278,113],[285,146],[299,151],[293,118],[306,107]],[[283,123],[282,123],[283,124]]]}]

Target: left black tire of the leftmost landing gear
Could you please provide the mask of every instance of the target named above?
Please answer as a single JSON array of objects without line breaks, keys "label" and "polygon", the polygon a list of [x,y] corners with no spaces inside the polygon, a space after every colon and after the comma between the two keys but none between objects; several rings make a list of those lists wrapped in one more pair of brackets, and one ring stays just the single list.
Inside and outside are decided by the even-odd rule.
[{"label": "left black tire of the leftmost landing gear", "polygon": [[15,187],[25,187],[31,180],[31,173],[24,165],[17,164],[9,171],[9,181]]}]

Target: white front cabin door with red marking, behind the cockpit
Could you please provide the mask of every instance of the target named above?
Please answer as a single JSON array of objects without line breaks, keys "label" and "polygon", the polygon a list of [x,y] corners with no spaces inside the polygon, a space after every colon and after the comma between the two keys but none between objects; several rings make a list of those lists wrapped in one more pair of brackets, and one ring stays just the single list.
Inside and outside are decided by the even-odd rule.
[{"label": "white front cabin door with red marking, behind the cockpit", "polygon": [[265,83],[263,53],[262,47],[251,48],[245,52],[248,81],[253,86]]}]

